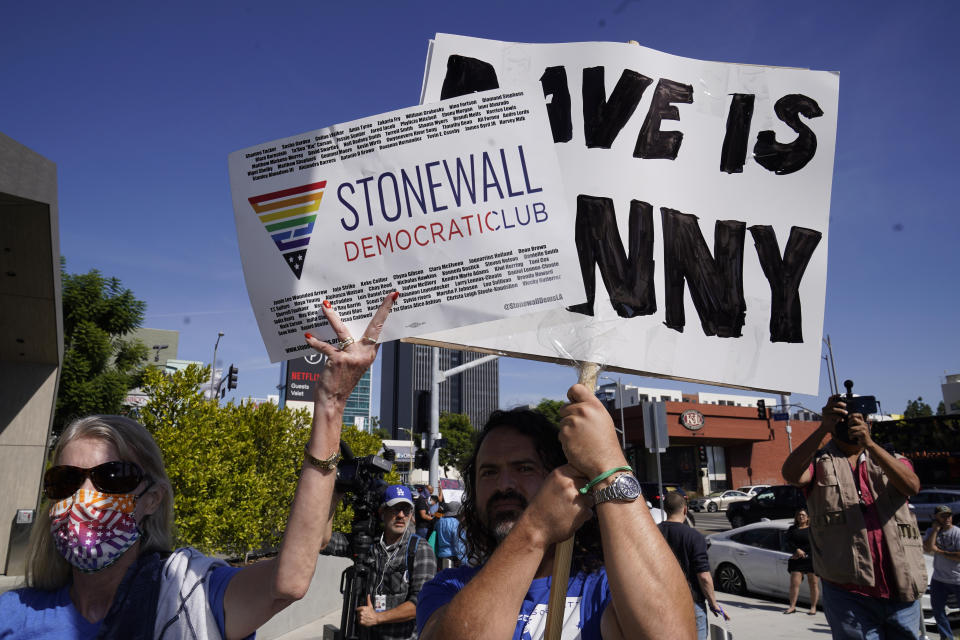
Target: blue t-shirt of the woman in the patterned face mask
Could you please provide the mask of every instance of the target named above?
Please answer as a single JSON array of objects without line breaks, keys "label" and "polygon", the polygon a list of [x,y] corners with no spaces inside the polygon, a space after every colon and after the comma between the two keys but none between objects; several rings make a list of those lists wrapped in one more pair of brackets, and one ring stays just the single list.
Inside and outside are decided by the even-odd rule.
[{"label": "blue t-shirt of the woman in the patterned face mask", "polygon": [[[217,567],[210,574],[207,599],[224,633],[223,596],[236,567]],[[92,640],[100,632],[100,622],[89,622],[70,600],[70,585],[56,591],[14,589],[0,595],[0,640]]]}]

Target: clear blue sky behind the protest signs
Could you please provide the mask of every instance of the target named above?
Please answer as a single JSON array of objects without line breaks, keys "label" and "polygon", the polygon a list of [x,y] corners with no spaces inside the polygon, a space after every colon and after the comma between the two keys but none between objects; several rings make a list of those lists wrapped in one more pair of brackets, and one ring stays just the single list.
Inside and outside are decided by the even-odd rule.
[{"label": "clear blue sky behind the protest signs", "polygon": [[[227,155],[415,104],[436,32],[635,39],[838,71],[824,324],[838,375],[899,412],[917,396],[935,407],[944,372],[960,372],[955,0],[24,2],[3,14],[0,131],[57,164],[68,269],[119,277],[147,302],[145,326],[180,331],[181,358],[209,361],[223,331],[218,360],[239,366],[243,396],[275,392],[279,373],[243,284]],[[513,359],[500,371],[504,406],[561,398],[575,379]],[[820,390],[794,400],[821,406],[825,370]]]}]

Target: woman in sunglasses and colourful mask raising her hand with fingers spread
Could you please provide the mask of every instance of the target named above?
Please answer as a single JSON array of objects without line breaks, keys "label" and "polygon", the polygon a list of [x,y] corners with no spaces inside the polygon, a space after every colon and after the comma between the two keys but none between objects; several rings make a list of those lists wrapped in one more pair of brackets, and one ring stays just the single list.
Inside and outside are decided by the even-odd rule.
[{"label": "woman in sunglasses and colourful mask raising her hand with fingers spread", "polygon": [[47,509],[34,524],[27,587],[0,595],[0,640],[244,638],[306,594],[330,539],[343,409],[376,358],[399,294],[384,298],[364,335],[349,335],[329,302],[336,345],[327,357],[287,528],[275,558],[237,569],[172,548],[173,493],[153,438],[121,416],[70,424],[44,475]]}]

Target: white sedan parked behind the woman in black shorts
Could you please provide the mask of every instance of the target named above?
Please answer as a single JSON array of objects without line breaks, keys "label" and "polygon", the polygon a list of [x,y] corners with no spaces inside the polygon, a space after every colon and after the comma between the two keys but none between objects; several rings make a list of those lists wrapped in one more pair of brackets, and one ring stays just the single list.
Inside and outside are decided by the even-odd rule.
[{"label": "white sedan parked behind the woman in black shorts", "polygon": [[[793,555],[786,543],[792,519],[755,522],[707,537],[707,557],[713,584],[719,591],[790,597],[787,561]],[[810,604],[807,580],[800,585],[800,600]]]}]

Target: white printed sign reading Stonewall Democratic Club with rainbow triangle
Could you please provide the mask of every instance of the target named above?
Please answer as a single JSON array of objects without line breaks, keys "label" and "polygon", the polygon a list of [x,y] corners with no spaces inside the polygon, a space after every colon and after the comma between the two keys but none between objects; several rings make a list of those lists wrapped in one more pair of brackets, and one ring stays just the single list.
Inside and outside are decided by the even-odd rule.
[{"label": "white printed sign reading Stonewall Democratic Club with rainbow triangle", "polygon": [[491,91],[230,154],[247,292],[271,361],[304,332],[382,340],[583,301],[539,90]]}]

